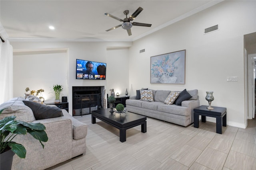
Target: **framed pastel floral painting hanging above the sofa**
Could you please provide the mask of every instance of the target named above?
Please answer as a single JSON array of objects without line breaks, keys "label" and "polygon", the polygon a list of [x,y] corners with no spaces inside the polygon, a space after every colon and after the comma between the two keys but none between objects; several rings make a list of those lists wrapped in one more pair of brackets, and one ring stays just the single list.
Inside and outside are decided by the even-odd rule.
[{"label": "framed pastel floral painting hanging above the sofa", "polygon": [[150,58],[150,83],[185,84],[186,50]]}]

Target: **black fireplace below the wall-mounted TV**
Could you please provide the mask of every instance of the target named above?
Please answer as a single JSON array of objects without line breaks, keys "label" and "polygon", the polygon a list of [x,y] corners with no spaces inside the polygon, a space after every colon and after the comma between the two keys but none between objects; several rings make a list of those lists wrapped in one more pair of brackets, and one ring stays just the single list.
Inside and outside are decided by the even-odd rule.
[{"label": "black fireplace below the wall-mounted TV", "polygon": [[104,86],[73,86],[73,116],[88,115],[93,110],[102,109]]}]

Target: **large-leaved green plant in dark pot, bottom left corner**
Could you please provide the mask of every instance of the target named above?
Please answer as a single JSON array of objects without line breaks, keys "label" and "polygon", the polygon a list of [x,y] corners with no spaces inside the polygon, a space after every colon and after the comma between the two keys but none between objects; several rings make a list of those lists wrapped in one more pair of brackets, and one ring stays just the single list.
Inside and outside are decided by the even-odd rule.
[{"label": "large-leaved green plant in dark pot, bottom left corner", "polygon": [[[0,110],[0,114],[4,109]],[[26,135],[29,133],[37,139],[42,147],[42,142],[48,141],[45,126],[42,123],[28,123],[15,120],[16,116],[5,117],[0,120],[0,169],[8,170],[12,168],[12,158],[17,154],[20,158],[26,157],[26,149],[23,145],[13,141],[17,135]]]}]

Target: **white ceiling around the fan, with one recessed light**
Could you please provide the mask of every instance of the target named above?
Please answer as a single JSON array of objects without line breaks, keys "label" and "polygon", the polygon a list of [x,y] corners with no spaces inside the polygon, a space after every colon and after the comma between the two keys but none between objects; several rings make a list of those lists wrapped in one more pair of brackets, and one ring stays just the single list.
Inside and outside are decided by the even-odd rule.
[{"label": "white ceiling around the fan, with one recessed light", "polygon": [[[134,41],[209,8],[222,0],[1,0],[0,21],[9,39],[60,41]],[[150,23],[151,27],[133,26],[132,35],[122,27],[105,31],[123,22],[142,7],[132,22]],[[49,26],[55,27],[54,30]]]}]

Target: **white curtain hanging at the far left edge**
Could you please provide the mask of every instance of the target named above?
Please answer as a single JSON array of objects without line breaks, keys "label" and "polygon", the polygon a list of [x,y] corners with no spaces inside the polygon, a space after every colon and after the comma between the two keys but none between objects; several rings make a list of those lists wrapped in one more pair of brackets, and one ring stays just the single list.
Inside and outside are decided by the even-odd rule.
[{"label": "white curtain hanging at the far left edge", "polygon": [[[0,33],[3,36],[2,24]],[[13,98],[13,50],[6,37],[2,38],[5,42],[0,41],[0,104]]]}]

